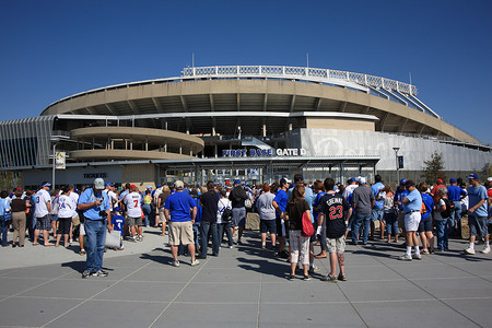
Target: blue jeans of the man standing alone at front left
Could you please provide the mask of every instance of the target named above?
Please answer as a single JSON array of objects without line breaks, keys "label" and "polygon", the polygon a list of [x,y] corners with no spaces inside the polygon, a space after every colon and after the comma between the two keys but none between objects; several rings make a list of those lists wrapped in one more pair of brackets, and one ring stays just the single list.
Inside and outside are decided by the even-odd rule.
[{"label": "blue jeans of the man standing alone at front left", "polygon": [[103,268],[104,245],[106,243],[106,220],[89,220],[84,223],[87,242],[85,270],[95,272]]}]

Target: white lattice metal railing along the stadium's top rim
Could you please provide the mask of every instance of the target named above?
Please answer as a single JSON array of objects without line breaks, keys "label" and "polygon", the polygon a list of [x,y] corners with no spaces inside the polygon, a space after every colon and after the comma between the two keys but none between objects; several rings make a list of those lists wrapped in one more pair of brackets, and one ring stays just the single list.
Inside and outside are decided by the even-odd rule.
[{"label": "white lattice metal railing along the stadium's top rim", "polygon": [[234,78],[272,77],[276,79],[301,79],[337,84],[337,81],[351,82],[366,87],[382,87],[400,93],[417,95],[417,86],[380,77],[338,71],[330,69],[290,66],[212,66],[188,67],[181,71],[183,78]]}]

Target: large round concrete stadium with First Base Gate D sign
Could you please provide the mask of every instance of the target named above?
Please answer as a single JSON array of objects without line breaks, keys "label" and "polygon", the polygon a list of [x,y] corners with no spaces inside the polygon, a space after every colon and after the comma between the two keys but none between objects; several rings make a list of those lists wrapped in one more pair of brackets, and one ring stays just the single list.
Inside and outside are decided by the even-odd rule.
[{"label": "large round concrete stadium with First Base Gate D sign", "polygon": [[[415,85],[330,69],[185,68],[176,78],[81,92],[38,117],[0,122],[0,165],[24,186],[51,176],[56,185],[94,177],[259,184],[300,172],[311,181],[380,174],[395,184],[397,173],[419,180],[434,152],[454,176],[492,162],[491,147],[417,95]],[[59,152],[65,169],[55,169]]]}]

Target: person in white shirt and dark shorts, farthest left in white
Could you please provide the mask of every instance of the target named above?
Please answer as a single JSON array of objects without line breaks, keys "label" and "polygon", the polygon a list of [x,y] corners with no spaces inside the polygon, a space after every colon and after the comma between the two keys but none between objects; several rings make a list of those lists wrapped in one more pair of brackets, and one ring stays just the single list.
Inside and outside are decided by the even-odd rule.
[{"label": "person in white shirt and dark shorts, farthest left in white", "polygon": [[34,231],[33,245],[38,245],[37,238],[43,231],[44,245],[55,246],[55,244],[49,243],[49,231],[51,230],[51,219],[49,218],[49,213],[51,212],[51,196],[49,195],[49,187],[51,187],[51,184],[44,181],[39,190],[34,195],[34,202],[36,203],[34,209],[36,230]]}]

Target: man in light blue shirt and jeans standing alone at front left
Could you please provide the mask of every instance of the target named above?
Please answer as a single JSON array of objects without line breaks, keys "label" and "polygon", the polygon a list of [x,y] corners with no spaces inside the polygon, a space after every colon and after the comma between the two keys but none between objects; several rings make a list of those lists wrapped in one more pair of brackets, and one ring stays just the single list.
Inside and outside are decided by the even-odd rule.
[{"label": "man in light blue shirt and jeans standing alone at front left", "polygon": [[87,242],[85,245],[86,261],[82,278],[107,277],[103,270],[104,245],[106,243],[106,229],[112,232],[113,225],[109,212],[109,199],[103,192],[104,180],[96,178],[94,187],[87,188],[79,197],[77,208],[84,215],[84,229]]}]

